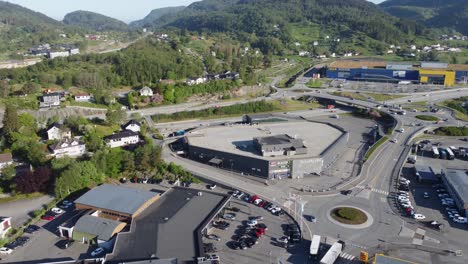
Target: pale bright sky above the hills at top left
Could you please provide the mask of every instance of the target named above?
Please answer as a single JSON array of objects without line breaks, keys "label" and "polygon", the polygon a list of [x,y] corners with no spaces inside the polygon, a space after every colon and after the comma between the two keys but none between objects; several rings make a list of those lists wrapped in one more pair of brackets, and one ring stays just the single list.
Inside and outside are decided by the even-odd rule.
[{"label": "pale bright sky above the hills at top left", "polygon": [[[347,0],[343,0],[347,1]],[[383,0],[370,0],[374,3]],[[187,6],[195,0],[7,0],[34,11],[62,20],[67,13],[86,10],[131,22],[145,17],[155,8]]]}]

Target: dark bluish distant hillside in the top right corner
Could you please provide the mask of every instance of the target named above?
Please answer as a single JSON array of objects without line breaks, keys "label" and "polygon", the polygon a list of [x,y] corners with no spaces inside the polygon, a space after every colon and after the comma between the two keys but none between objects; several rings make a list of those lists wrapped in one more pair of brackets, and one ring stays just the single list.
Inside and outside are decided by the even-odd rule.
[{"label": "dark bluish distant hillside in the top right corner", "polygon": [[468,34],[467,0],[387,0],[380,7],[400,18]]}]

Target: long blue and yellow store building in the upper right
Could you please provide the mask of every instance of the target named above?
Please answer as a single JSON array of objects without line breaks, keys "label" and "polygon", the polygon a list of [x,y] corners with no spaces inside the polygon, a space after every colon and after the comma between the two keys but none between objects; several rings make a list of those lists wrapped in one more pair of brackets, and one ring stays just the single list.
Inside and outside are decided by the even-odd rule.
[{"label": "long blue and yellow store building in the upper right", "polygon": [[468,82],[468,65],[441,62],[386,62],[341,60],[332,62],[327,78],[368,82],[411,82],[453,86]]}]

